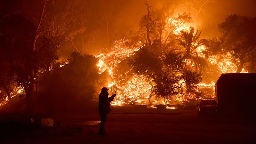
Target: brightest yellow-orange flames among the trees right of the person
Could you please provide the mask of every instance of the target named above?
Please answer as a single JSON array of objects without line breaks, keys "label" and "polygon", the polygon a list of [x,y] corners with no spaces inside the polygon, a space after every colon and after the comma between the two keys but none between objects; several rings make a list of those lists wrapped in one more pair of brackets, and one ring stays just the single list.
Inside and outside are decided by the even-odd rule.
[{"label": "brightest yellow-orange flames among the trees right of the person", "polygon": [[[177,25],[179,22],[176,20],[172,20],[171,18],[168,19],[168,23],[172,23],[172,25]],[[178,34],[181,30],[189,30],[189,26],[186,24],[180,25],[179,28],[175,29],[173,31],[174,34]],[[96,56],[96,58],[99,59],[98,67],[100,70],[100,73],[104,72],[105,70],[108,70],[110,76],[113,78],[113,81],[109,82],[108,88],[109,93],[113,94],[116,91],[117,97],[115,100],[111,102],[111,105],[129,105],[129,104],[148,104],[149,98],[150,98],[150,89],[155,85],[152,82],[152,79],[148,79],[144,76],[138,76],[133,75],[132,79],[129,80],[129,82],[123,84],[120,83],[120,79],[114,78],[114,70],[117,67],[117,64],[120,63],[122,60],[124,60],[126,57],[131,57],[135,52],[137,52],[140,47],[143,45],[140,45],[140,47],[134,47],[128,46],[127,43],[130,42],[126,38],[121,38],[114,42],[114,46],[108,53],[101,53]],[[139,45],[139,44],[138,44]],[[198,53],[198,56],[205,57],[203,54],[203,51],[205,50],[205,46],[199,46],[196,49],[196,52]],[[217,56],[212,56],[208,60],[211,64],[217,65],[220,69],[221,73],[235,73],[236,72],[236,65],[232,63],[231,55],[227,55],[225,59],[222,59],[222,61],[217,60]],[[187,60],[187,64],[190,66],[193,66],[193,62],[191,60]],[[131,70],[130,70],[131,71]],[[242,71],[245,72],[245,71]],[[198,91],[201,89],[210,89],[212,93],[206,93],[204,97],[207,98],[214,98],[215,97],[215,88],[214,88],[215,82],[211,83],[200,83],[198,84]],[[178,95],[172,101],[184,101],[188,100],[188,97],[184,95]],[[151,100],[150,102],[151,108],[156,108],[154,105],[156,104],[168,104],[168,102],[156,99]],[[169,108],[169,107],[168,107]],[[175,109],[175,107],[171,107],[170,109]]]}]

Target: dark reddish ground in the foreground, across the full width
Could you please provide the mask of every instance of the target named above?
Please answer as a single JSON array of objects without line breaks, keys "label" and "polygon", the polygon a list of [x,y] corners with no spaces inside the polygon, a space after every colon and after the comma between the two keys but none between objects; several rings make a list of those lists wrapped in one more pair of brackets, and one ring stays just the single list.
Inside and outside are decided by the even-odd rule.
[{"label": "dark reddish ground in the foreground, across the full width", "polygon": [[114,110],[108,115],[106,135],[98,134],[99,120],[97,113],[70,116],[62,119],[60,125],[34,130],[21,129],[2,139],[1,143],[256,143],[256,121],[244,116],[197,116],[196,109]]}]

